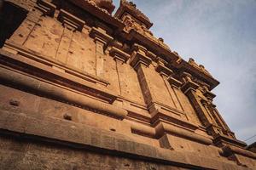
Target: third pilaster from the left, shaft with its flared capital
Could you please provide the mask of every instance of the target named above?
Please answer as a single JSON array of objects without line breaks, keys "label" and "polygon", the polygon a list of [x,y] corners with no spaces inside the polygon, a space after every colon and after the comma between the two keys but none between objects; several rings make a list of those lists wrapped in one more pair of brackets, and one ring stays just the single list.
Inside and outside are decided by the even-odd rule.
[{"label": "third pilaster from the left, shaft with its flared capital", "polygon": [[107,32],[100,27],[93,27],[90,31],[90,37],[94,38],[96,43],[96,76],[102,77],[105,55],[104,49],[108,42],[113,40],[113,37],[110,37]]}]

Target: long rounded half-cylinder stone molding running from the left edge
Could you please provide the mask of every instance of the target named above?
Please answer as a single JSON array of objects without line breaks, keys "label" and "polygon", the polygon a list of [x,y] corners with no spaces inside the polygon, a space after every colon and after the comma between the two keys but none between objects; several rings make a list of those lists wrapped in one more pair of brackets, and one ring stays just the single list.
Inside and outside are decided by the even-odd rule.
[{"label": "long rounded half-cylinder stone molding running from the left edge", "polygon": [[92,99],[86,95],[67,90],[56,84],[38,80],[29,75],[24,75],[15,71],[10,71],[5,68],[0,68],[0,79],[9,84],[15,84],[18,87],[23,87],[31,90],[33,93],[44,94],[45,97],[58,99],[67,103],[84,107],[85,109],[92,109],[93,111],[100,111],[100,113],[112,116],[118,119],[124,119],[128,112],[117,106],[110,105]]}]

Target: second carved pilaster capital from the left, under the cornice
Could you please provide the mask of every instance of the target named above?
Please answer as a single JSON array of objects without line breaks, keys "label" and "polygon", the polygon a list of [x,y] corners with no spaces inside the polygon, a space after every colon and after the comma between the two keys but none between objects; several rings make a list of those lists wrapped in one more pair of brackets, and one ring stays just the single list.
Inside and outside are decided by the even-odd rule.
[{"label": "second carved pilaster capital from the left, under the cornice", "polygon": [[58,15],[58,20],[62,22],[63,26],[67,26],[67,28],[71,30],[82,31],[84,27],[84,20],[80,20],[63,9],[61,9],[60,14]]}]

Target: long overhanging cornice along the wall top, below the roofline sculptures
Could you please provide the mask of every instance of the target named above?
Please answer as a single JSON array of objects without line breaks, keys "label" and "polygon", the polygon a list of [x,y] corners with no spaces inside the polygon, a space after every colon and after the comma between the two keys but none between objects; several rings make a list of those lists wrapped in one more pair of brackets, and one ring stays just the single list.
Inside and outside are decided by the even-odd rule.
[{"label": "long overhanging cornice along the wall top, below the roofline sculptures", "polygon": [[[114,16],[112,16],[111,14],[104,12],[102,8],[90,4],[88,1],[69,1],[71,3],[76,4],[80,8],[83,8],[84,10],[88,11],[90,14],[95,15],[100,20],[104,20],[109,25],[116,27],[117,32],[124,30],[125,23],[122,20],[119,20],[119,18],[117,17],[120,13],[118,12],[119,9],[117,13]],[[143,44],[149,50],[154,52],[154,54],[161,55],[161,57],[167,59],[168,62],[171,62],[169,63],[169,65],[172,65],[173,67],[179,70],[189,71],[195,77],[201,79],[202,82],[207,82],[207,84],[209,84],[210,86],[210,89],[215,88],[219,83],[217,80],[211,77],[210,74],[207,73],[207,71],[202,71],[202,66],[200,69],[196,69],[193,65],[189,65],[187,61],[183,60],[180,56],[172,52],[171,49],[165,43],[160,41],[160,39],[150,35],[150,33],[148,33],[147,31],[138,32],[135,30],[131,30],[129,33],[123,32],[121,37],[128,41],[143,42]],[[149,58],[151,57],[149,56]]]}]

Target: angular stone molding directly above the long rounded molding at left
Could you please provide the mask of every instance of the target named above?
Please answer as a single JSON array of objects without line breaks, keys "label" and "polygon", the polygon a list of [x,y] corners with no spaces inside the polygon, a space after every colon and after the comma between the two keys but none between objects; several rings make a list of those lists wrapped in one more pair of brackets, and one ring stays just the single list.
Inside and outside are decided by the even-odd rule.
[{"label": "angular stone molding directly above the long rounded molding at left", "polygon": [[37,75],[50,82],[55,82],[61,86],[77,90],[80,93],[90,95],[104,102],[113,103],[117,98],[117,95],[109,92],[105,86],[103,88],[95,88],[96,82],[91,83],[81,77],[72,77],[67,72],[55,71],[55,69],[49,65],[42,65],[35,60],[26,59],[16,54],[9,54],[8,52],[1,51],[1,49],[0,63],[6,66],[13,66],[14,69],[19,71]]}]

